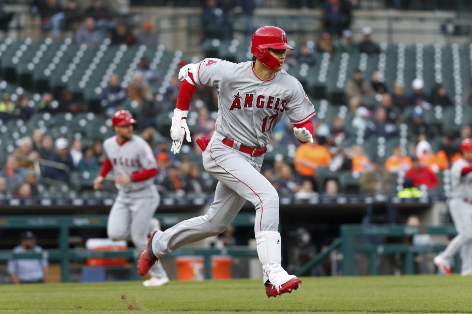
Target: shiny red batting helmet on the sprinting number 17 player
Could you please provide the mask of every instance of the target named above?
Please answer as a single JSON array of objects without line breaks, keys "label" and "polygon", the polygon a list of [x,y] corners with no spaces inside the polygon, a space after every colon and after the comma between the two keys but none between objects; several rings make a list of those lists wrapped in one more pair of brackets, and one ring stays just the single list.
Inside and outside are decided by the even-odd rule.
[{"label": "shiny red batting helmet on the sprinting number 17 player", "polygon": [[270,54],[268,48],[293,49],[287,45],[287,34],[283,29],[275,26],[264,26],[252,35],[251,53],[268,68],[278,68],[280,61]]}]

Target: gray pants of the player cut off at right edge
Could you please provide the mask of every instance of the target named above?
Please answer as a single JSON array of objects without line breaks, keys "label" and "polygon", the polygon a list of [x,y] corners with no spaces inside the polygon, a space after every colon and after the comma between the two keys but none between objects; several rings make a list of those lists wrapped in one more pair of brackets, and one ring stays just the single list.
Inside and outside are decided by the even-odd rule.
[{"label": "gray pants of the player cut off at right edge", "polygon": [[449,202],[457,235],[452,239],[441,256],[446,261],[454,258],[461,250],[462,271],[472,270],[472,204],[461,199],[452,199]]}]

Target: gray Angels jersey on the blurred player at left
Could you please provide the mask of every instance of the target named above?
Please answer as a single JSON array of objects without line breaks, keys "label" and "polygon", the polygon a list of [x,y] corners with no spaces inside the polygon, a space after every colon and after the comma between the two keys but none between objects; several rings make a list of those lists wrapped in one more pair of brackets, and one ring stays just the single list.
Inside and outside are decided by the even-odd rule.
[{"label": "gray Angels jersey on the blurred player at left", "polygon": [[[111,161],[115,174],[119,172],[131,176],[135,172],[144,169],[157,168],[157,162],[152,154],[148,143],[137,135],[120,145],[117,136],[112,136],[105,140],[103,149],[106,157]],[[153,178],[148,180],[131,182],[121,186],[116,184],[119,194],[121,193],[139,193],[152,185]]]}]

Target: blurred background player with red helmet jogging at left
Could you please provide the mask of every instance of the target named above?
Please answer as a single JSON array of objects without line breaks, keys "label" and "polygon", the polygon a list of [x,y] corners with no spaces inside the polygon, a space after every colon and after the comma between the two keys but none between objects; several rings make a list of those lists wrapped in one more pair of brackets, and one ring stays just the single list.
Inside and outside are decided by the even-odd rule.
[{"label": "blurred background player with red helmet jogging at left", "polygon": [[[112,240],[131,237],[139,250],[146,248],[150,221],[159,206],[159,193],[152,178],[157,174],[156,160],[148,143],[133,134],[136,121],[127,110],[115,112],[112,117],[117,135],[105,140],[103,149],[107,159],[100,175],[93,181],[93,188],[103,188],[103,180],[110,170],[117,176],[115,184],[118,197],[108,217],[107,233]],[[169,282],[161,263],[150,268],[151,278],[143,285],[162,286]]]}]

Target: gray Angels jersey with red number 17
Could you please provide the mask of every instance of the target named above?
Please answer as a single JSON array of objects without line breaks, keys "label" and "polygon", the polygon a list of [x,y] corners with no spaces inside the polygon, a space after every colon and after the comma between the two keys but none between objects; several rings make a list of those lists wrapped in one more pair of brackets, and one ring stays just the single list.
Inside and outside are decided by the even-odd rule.
[{"label": "gray Angels jersey with red number 17", "polygon": [[218,133],[246,146],[264,147],[284,112],[292,124],[300,124],[315,114],[315,108],[300,82],[285,70],[262,80],[253,66],[252,61],[207,58],[193,69],[193,78],[218,90]]}]

